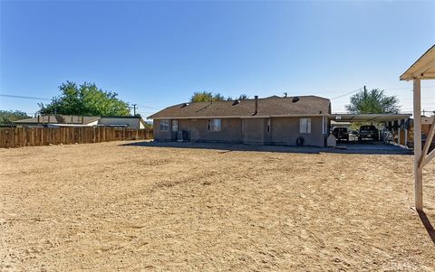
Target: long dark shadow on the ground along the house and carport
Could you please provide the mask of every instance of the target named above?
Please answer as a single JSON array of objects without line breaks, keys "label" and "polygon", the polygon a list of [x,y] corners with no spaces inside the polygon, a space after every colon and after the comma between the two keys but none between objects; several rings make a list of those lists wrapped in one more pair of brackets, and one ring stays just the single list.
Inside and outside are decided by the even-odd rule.
[{"label": "long dark shadow on the ground along the house and carport", "polygon": [[279,152],[279,153],[302,153],[302,154],[365,154],[365,155],[411,155],[408,149],[397,145],[378,145],[378,144],[338,144],[338,148],[332,147],[313,147],[313,146],[285,146],[285,145],[231,145],[217,143],[178,143],[178,142],[134,142],[123,144],[128,146],[146,147],[171,147],[171,148],[198,148],[221,150],[222,153],[231,151],[256,151],[256,152]]}]

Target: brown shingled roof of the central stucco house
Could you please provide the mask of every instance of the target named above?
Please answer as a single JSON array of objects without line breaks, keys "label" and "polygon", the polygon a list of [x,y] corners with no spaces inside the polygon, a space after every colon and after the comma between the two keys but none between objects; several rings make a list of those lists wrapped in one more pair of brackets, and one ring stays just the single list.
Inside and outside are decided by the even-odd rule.
[{"label": "brown shingled roof of the central stucco house", "polygon": [[[294,102],[294,98],[299,100]],[[258,98],[256,115],[255,99],[236,101],[183,103],[162,109],[149,118],[316,116],[331,112],[330,100],[315,96]]]}]

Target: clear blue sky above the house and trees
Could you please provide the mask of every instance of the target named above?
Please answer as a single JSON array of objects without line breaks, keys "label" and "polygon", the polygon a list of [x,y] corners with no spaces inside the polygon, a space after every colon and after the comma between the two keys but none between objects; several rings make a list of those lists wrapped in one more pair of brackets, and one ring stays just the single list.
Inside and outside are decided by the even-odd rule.
[{"label": "clear blue sky above the house and trees", "polygon": [[[411,111],[399,76],[435,43],[435,1],[4,1],[0,94],[52,98],[95,82],[144,116],[194,91],[250,97],[385,89]],[[435,109],[435,80],[422,83]],[[343,112],[349,96],[333,99]],[[33,114],[34,99],[0,97]]]}]

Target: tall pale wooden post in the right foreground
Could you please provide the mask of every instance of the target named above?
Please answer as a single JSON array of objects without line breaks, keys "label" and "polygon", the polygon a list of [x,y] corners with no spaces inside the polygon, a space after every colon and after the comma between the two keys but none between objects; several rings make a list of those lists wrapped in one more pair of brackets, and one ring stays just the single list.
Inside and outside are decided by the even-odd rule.
[{"label": "tall pale wooden post in the right foreground", "polygon": [[420,79],[414,79],[414,193],[415,209],[423,210],[423,174],[419,166],[421,156],[421,95]]}]

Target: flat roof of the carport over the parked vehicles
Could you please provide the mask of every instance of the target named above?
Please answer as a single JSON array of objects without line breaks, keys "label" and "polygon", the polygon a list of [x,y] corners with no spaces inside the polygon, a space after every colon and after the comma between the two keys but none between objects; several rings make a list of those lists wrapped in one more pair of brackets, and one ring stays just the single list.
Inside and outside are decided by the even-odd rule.
[{"label": "flat roof of the carport over the parked vehicles", "polygon": [[333,114],[335,122],[376,122],[384,123],[403,120],[411,117],[411,114]]}]

